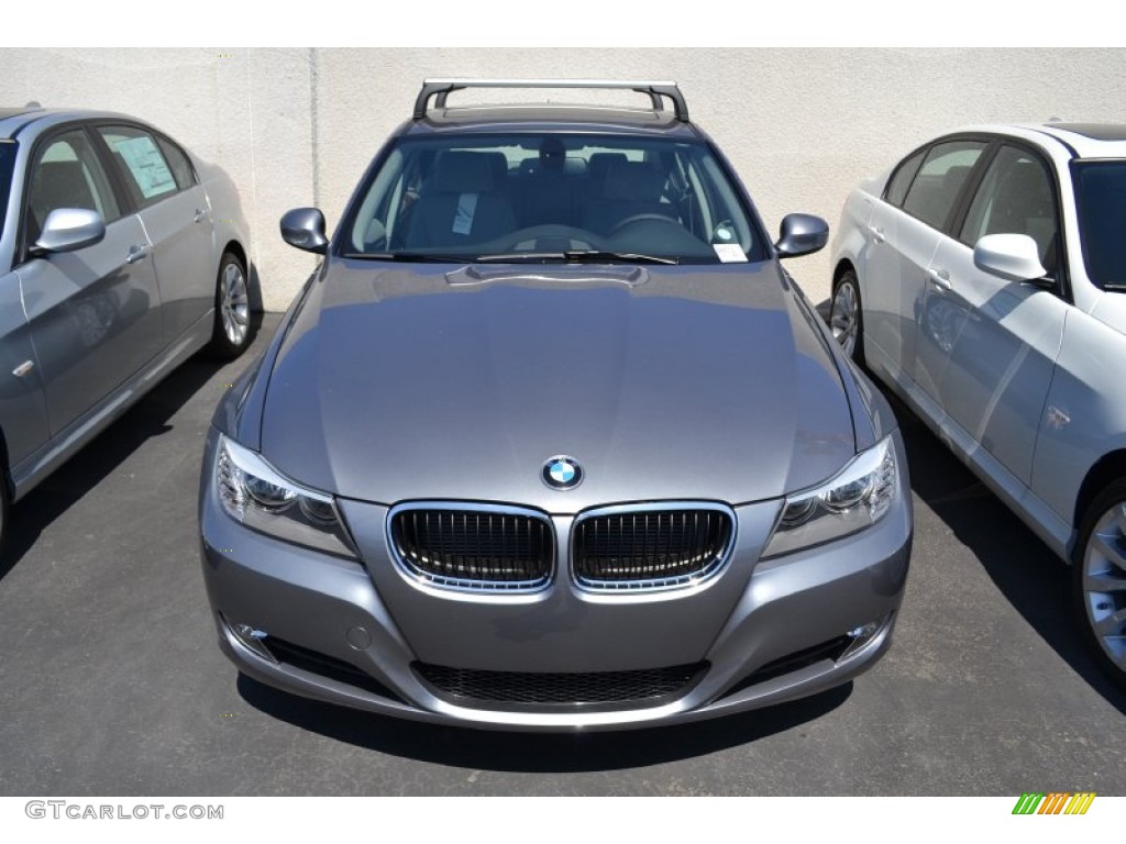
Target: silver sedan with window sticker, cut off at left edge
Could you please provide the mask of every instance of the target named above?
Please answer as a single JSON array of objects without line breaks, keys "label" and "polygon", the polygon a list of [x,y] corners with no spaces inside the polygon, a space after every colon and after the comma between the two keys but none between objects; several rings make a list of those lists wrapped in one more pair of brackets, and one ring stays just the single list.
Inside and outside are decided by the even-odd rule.
[{"label": "silver sedan with window sticker, cut off at left edge", "polygon": [[9,504],[204,347],[250,340],[230,179],[125,115],[0,110],[0,541]]}]

